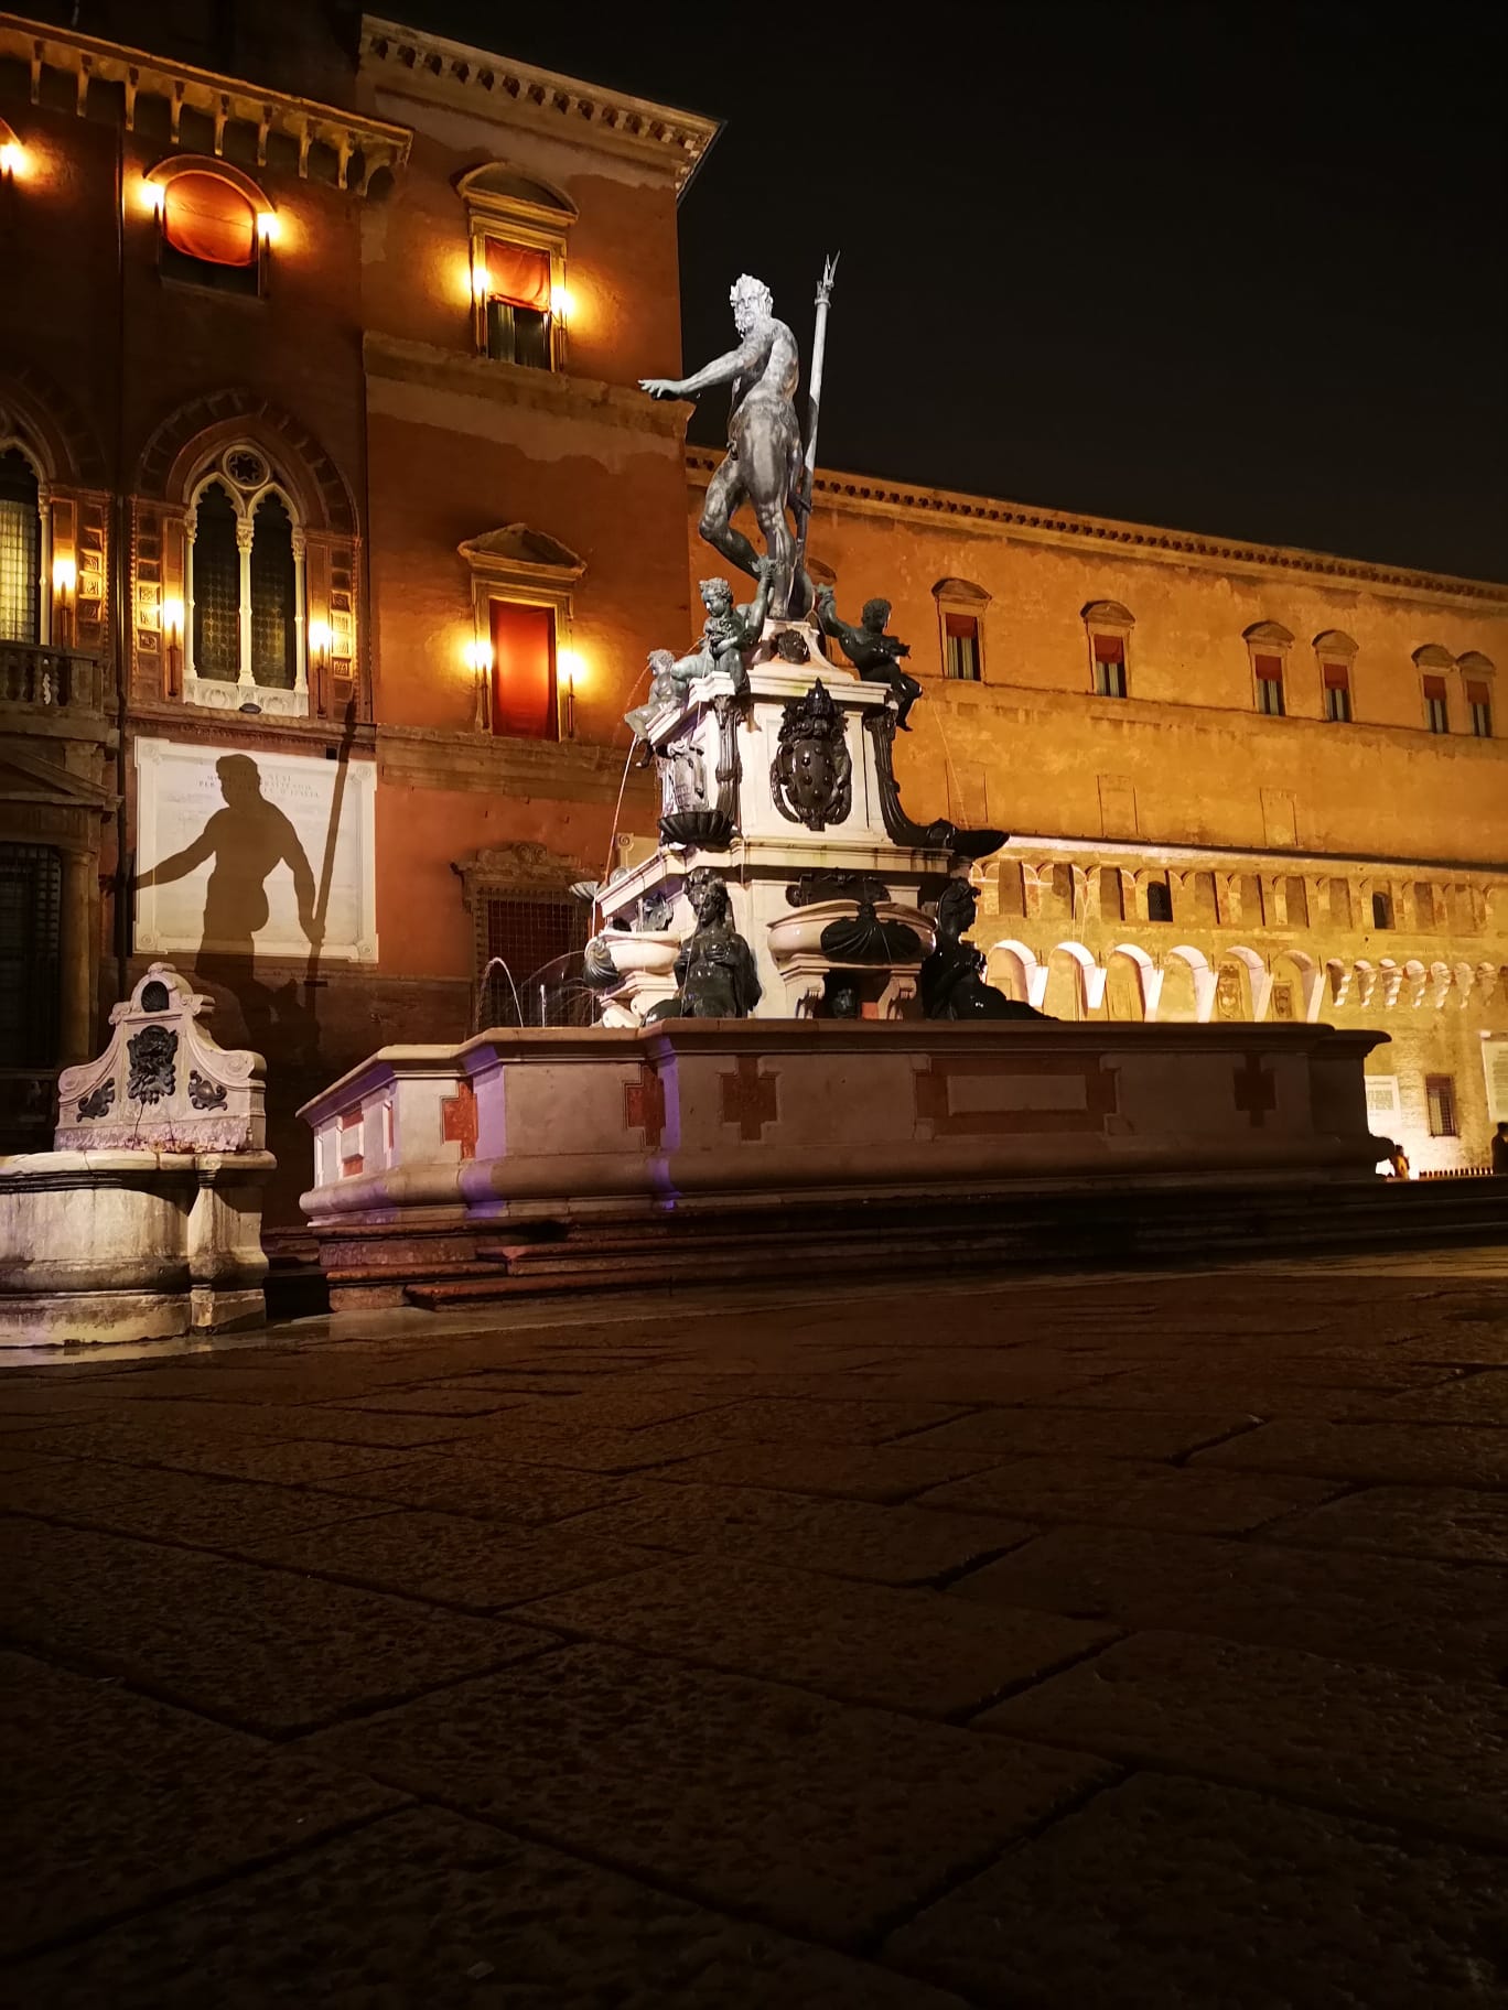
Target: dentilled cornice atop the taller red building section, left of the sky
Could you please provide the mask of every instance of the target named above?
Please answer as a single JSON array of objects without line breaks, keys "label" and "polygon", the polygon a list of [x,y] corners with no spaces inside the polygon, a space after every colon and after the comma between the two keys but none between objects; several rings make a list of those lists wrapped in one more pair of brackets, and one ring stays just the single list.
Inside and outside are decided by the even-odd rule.
[{"label": "dentilled cornice atop the taller red building section, left of the sky", "polygon": [[555,70],[446,42],[400,22],[362,16],[362,72],[378,88],[585,139],[641,161],[655,161],[684,191],[718,137],[718,121],[585,84]]}]

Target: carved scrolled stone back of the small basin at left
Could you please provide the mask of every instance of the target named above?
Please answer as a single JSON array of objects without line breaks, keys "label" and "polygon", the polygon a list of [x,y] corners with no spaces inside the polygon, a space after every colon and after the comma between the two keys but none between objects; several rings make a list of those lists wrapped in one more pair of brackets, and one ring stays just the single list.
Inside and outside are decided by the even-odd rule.
[{"label": "carved scrolled stone back of the small basin at left", "polygon": [[153,963],[111,1011],[105,1053],[58,1077],[54,1150],[261,1152],[261,1055],[221,1047],[199,1023],[213,1009]]}]

